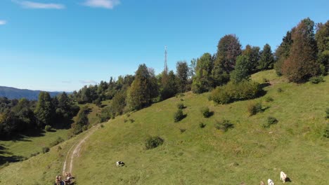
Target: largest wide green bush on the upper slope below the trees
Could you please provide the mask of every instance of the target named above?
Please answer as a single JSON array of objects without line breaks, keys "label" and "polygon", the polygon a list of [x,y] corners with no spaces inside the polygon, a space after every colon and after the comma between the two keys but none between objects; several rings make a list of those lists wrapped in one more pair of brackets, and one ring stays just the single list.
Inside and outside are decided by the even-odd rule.
[{"label": "largest wide green bush on the upper slope below the trees", "polygon": [[257,82],[246,80],[240,83],[229,82],[212,90],[209,100],[213,100],[217,104],[228,104],[237,100],[255,98],[259,93],[261,93],[261,88]]}]

